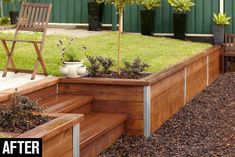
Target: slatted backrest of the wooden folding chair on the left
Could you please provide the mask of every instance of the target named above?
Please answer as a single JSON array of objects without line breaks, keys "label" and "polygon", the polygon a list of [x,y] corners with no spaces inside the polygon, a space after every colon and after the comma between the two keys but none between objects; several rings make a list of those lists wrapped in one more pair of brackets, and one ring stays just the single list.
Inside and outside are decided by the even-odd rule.
[{"label": "slatted backrest of the wooden folding chair on the left", "polygon": [[16,31],[46,32],[52,4],[22,3]]}]

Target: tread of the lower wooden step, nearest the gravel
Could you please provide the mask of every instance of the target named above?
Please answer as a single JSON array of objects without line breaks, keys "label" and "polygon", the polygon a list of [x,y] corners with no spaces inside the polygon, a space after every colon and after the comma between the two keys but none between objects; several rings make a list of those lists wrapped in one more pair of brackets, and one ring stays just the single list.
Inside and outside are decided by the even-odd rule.
[{"label": "tread of the lower wooden step, nearest the gravel", "polygon": [[123,123],[126,115],[92,112],[81,122],[80,147],[83,148],[96,138]]}]

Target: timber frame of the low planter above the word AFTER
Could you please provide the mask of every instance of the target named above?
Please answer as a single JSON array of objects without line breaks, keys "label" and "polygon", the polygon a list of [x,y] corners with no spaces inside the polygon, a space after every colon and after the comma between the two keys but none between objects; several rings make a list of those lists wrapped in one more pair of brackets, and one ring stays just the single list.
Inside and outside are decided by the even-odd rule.
[{"label": "timber frame of the low planter above the word AFTER", "polygon": [[74,126],[81,122],[83,115],[52,113],[44,116],[55,117],[55,119],[24,133],[0,133],[15,138],[41,138],[42,156],[45,157],[72,156],[75,151],[73,144],[77,147],[76,151],[79,151],[79,141],[73,139],[75,134],[79,136],[79,128],[76,130]]}]

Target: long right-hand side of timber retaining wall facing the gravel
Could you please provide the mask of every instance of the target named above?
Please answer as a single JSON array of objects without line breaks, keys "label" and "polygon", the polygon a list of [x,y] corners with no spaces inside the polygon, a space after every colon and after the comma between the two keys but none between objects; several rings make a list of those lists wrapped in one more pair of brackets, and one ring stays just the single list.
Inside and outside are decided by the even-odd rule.
[{"label": "long right-hand side of timber retaining wall facing the gravel", "polygon": [[144,79],[150,82],[151,88],[151,131],[158,129],[219,76],[222,50],[214,46]]}]

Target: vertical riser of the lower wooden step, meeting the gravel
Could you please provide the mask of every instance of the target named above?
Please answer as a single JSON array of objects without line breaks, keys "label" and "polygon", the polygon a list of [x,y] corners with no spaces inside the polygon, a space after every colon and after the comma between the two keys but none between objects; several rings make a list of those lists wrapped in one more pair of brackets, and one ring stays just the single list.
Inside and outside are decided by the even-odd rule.
[{"label": "vertical riser of the lower wooden step, meeting the gravel", "polygon": [[81,148],[81,157],[96,157],[99,153],[111,146],[124,133],[125,123],[121,123],[92,143]]}]

